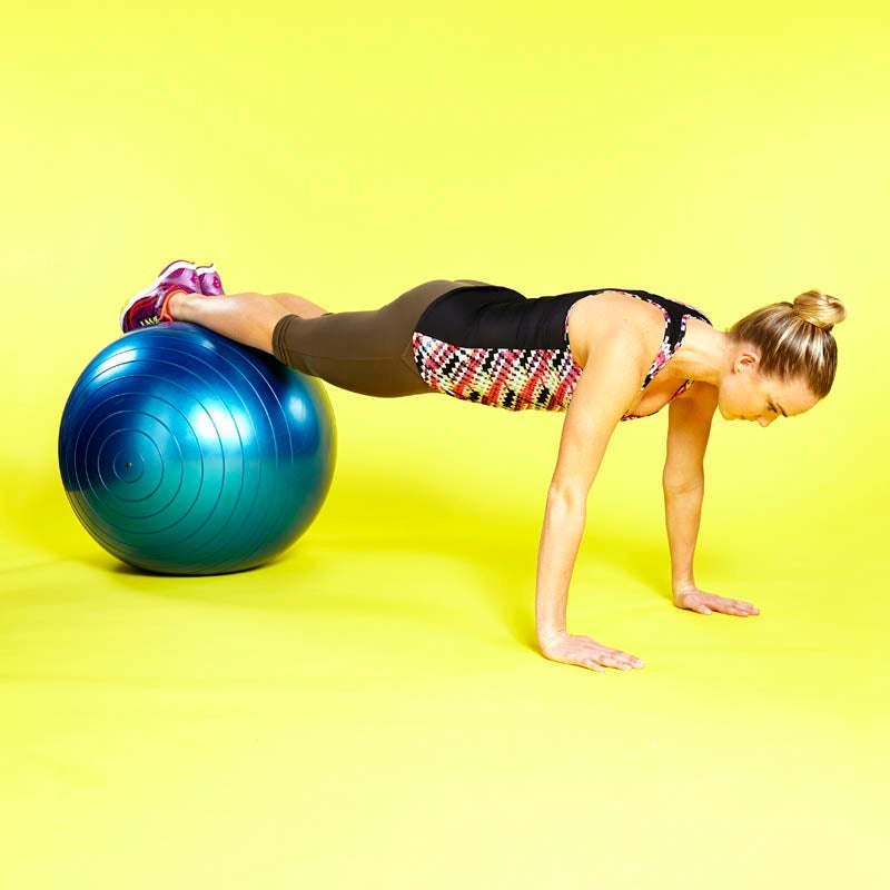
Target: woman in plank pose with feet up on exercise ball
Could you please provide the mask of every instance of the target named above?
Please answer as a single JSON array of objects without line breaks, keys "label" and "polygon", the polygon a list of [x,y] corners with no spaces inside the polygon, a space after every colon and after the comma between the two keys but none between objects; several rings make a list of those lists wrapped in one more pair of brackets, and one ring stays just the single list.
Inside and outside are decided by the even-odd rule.
[{"label": "woman in plank pose with feet up on exercise ball", "polygon": [[674,605],[755,615],[751,603],[702,591],[693,578],[711,419],[719,409],[725,419],[769,426],[813,407],[831,389],[838,347],[830,332],[846,315],[835,297],[808,290],[718,330],[694,306],[646,290],[530,299],[442,278],[379,309],[330,313],[294,294],[224,295],[212,266],[178,260],[123,306],[120,322],[125,333],[194,322],[365,395],[437,392],[510,411],[565,412],[538,550],[537,639],[553,661],[603,671],[643,661],[570,634],[565,612],[587,493],[615,426],[670,404],[662,482]]}]

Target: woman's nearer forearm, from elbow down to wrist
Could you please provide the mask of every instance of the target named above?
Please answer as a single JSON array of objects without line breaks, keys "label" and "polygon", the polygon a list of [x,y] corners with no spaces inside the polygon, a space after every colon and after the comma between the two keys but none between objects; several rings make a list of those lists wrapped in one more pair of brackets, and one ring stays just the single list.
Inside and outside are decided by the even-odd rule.
[{"label": "woman's nearer forearm, from elbow down to wrist", "polygon": [[547,495],[537,551],[535,592],[535,626],[542,645],[566,630],[568,584],[584,533],[586,512],[584,498],[568,498],[555,492]]}]

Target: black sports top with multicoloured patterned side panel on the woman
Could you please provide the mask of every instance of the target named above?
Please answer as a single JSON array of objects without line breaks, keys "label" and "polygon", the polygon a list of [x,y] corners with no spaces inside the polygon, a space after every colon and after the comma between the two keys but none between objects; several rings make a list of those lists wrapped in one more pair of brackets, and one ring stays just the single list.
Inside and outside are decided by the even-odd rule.
[{"label": "black sports top with multicoloured patterned side panel on the woman", "polygon": [[711,324],[694,306],[647,290],[603,287],[528,298],[508,287],[472,285],[443,294],[417,320],[412,335],[417,369],[431,389],[454,398],[508,411],[565,412],[583,370],[568,346],[568,319],[577,300],[604,290],[621,290],[664,314],[664,338],[640,392],[682,346],[688,318]]}]

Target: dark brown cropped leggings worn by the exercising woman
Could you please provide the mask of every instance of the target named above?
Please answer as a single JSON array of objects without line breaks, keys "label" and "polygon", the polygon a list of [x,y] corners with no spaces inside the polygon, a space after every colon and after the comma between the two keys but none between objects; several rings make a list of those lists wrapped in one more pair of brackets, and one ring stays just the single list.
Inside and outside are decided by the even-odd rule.
[{"label": "dark brown cropped leggings worn by the exercising woman", "polygon": [[406,290],[379,309],[325,313],[317,318],[286,315],[275,326],[275,357],[303,374],[367,396],[433,393],[414,362],[412,335],[433,300],[469,278],[434,278]]}]

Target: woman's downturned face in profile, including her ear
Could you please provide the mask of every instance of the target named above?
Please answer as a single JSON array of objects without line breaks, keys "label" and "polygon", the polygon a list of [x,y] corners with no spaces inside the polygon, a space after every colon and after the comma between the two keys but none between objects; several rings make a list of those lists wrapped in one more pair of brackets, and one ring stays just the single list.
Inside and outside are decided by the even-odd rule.
[{"label": "woman's downturned face in profile, including her ear", "polygon": [[819,399],[801,378],[781,382],[760,373],[760,353],[740,347],[718,387],[718,408],[726,421],[754,421],[769,426],[777,417],[803,414]]}]

